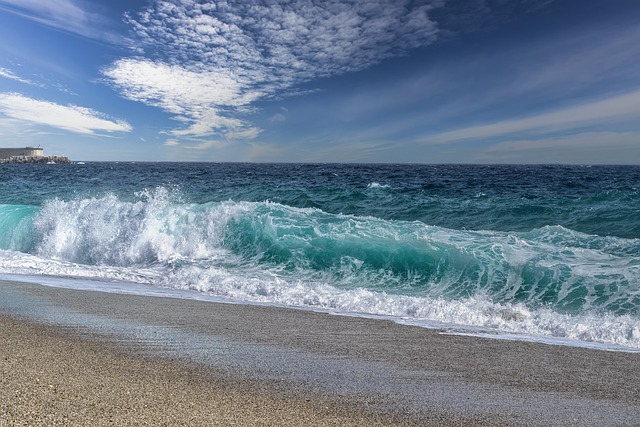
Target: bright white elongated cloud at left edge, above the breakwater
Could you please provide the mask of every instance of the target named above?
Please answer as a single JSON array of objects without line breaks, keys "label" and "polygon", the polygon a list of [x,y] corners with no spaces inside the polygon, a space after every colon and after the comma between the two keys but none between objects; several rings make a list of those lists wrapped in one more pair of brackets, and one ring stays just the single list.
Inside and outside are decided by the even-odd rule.
[{"label": "bright white elongated cloud at left edge, above the breakwater", "polygon": [[132,130],[128,123],[110,120],[103,114],[88,108],[40,101],[17,93],[0,93],[0,113],[22,122],[87,135],[95,135],[97,132],[130,132]]}]

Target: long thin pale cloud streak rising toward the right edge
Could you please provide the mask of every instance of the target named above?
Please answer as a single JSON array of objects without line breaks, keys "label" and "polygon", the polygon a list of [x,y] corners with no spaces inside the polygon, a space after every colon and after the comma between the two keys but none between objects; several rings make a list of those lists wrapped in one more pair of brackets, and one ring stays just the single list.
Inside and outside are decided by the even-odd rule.
[{"label": "long thin pale cloud streak rising toward the right edge", "polygon": [[640,123],[640,91],[522,119],[472,126],[423,138],[428,144],[498,138],[518,133],[550,134],[631,119]]}]

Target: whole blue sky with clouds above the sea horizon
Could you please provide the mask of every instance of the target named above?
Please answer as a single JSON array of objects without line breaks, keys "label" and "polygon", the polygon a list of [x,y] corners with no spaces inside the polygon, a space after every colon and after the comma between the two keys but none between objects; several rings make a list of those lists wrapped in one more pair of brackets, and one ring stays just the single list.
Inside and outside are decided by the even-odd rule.
[{"label": "whole blue sky with clouds above the sea horizon", "polygon": [[637,0],[0,0],[0,146],[640,163]]}]

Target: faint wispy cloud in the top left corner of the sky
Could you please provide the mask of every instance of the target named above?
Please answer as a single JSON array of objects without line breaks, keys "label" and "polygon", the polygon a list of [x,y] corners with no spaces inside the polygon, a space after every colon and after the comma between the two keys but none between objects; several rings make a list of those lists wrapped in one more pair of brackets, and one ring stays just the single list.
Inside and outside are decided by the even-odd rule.
[{"label": "faint wispy cloud in the top left corner of the sky", "polygon": [[76,0],[0,0],[0,9],[49,27],[110,43],[125,41],[108,29],[104,16],[84,6]]}]

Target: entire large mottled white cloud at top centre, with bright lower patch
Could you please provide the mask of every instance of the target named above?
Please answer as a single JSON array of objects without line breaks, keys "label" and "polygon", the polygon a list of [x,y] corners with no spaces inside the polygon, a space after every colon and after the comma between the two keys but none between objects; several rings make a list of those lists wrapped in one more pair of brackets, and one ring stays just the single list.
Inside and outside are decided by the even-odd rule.
[{"label": "entire large mottled white cloud at top centre, with bright lower patch", "polygon": [[366,69],[433,43],[441,0],[155,0],[128,21],[144,58],[103,73],[122,94],[174,115],[174,137],[259,133],[238,117],[317,78]]}]

